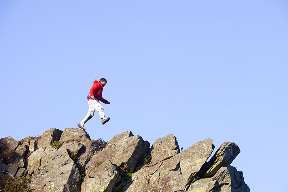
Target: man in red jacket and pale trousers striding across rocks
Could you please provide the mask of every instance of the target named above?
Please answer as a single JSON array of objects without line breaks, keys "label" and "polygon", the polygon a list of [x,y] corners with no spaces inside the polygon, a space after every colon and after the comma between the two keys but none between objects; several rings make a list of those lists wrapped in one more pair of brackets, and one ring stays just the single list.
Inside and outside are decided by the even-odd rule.
[{"label": "man in red jacket and pale trousers striding across rocks", "polygon": [[102,101],[103,103],[110,105],[110,102],[103,99],[102,97],[103,87],[106,85],[106,83],[107,80],[105,78],[101,78],[100,81],[97,81],[95,79],[94,85],[91,87],[89,92],[90,97],[88,98],[88,113],[84,117],[84,119],[78,124],[78,127],[80,127],[81,129],[85,130],[84,124],[93,117],[95,110],[98,111],[103,125],[110,120],[109,117],[105,118],[104,107],[101,105],[101,103],[99,103],[99,101]]}]

